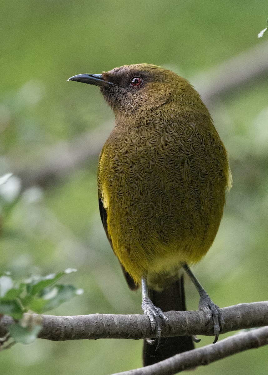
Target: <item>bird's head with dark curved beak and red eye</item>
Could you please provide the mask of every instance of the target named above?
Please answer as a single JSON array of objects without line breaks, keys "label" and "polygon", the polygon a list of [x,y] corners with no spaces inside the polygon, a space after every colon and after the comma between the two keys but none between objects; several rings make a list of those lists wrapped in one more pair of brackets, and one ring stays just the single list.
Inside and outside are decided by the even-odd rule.
[{"label": "bird's head with dark curved beak and red eye", "polygon": [[[123,65],[102,74],[79,74],[70,81],[99,86],[116,115],[170,113],[205,107],[199,94],[182,77],[152,64]],[[149,111],[149,112],[148,112]]]}]

